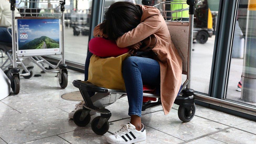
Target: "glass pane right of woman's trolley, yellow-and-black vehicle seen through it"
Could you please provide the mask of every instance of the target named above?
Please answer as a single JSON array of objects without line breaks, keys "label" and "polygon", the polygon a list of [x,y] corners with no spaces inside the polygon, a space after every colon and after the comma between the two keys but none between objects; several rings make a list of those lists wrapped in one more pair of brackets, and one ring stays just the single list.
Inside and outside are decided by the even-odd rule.
[{"label": "glass pane right of woman's trolley, yellow-and-black vehicle seen through it", "polygon": [[201,0],[194,14],[191,88],[208,95],[219,0]]}]

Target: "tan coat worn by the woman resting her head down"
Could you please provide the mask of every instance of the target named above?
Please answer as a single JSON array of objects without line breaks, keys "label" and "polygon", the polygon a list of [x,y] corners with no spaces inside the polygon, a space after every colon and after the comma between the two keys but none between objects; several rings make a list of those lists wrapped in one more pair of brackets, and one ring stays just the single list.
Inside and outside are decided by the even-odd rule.
[{"label": "tan coat worn by the woman resting her head down", "polygon": [[[179,92],[182,81],[182,59],[175,48],[167,25],[157,8],[141,6],[143,10],[141,23],[131,31],[116,40],[119,47],[127,47],[140,42],[154,34],[157,44],[153,52],[157,54],[160,64],[161,102],[164,114],[168,114]],[[100,31],[99,26],[94,29],[95,37],[107,37]]]}]

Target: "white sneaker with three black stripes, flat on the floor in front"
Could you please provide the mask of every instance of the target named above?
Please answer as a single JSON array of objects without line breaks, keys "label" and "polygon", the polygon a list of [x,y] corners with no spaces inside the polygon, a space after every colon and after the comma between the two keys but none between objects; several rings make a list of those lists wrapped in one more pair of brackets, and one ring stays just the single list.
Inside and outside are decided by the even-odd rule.
[{"label": "white sneaker with three black stripes, flat on the floor in front", "polygon": [[130,144],[146,140],[146,130],[142,124],[142,129],[137,131],[135,126],[130,122],[126,125],[121,125],[122,128],[115,132],[114,135],[107,137],[110,144]]}]

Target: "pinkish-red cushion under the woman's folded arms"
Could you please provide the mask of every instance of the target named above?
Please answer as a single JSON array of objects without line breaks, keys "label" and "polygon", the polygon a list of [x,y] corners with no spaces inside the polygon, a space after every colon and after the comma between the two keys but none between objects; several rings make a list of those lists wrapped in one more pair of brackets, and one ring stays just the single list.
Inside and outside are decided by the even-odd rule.
[{"label": "pinkish-red cushion under the woman's folded arms", "polygon": [[120,56],[129,50],[128,47],[118,47],[115,41],[104,38],[93,38],[89,41],[89,51],[99,57]]}]

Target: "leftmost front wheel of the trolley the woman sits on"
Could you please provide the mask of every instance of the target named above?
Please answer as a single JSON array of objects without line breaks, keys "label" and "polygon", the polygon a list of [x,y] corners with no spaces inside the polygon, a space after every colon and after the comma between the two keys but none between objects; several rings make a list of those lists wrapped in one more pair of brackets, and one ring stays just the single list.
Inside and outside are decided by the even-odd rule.
[{"label": "leftmost front wheel of the trolley the woman sits on", "polygon": [[88,114],[85,118],[84,118],[84,120],[79,120],[79,118],[80,118],[80,116],[81,116],[81,114],[82,114],[82,111],[83,111],[83,109],[79,109],[79,110],[77,110],[75,113],[74,113],[74,116],[73,116],[73,121],[74,121],[74,123],[76,124],[76,125],[78,125],[78,126],[81,126],[81,127],[84,127],[84,126],[87,126],[88,124],[89,124],[89,122],[90,122],[90,120],[91,120],[91,116],[90,116],[90,114]]}]

